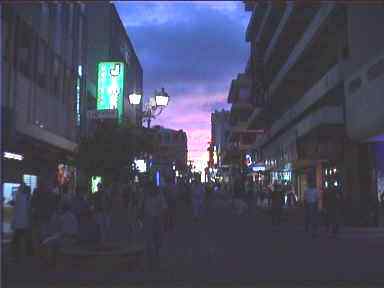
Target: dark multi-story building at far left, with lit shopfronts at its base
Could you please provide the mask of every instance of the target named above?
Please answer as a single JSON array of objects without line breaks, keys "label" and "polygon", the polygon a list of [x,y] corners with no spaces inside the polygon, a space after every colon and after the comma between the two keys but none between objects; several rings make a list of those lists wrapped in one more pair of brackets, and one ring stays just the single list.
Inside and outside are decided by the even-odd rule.
[{"label": "dark multi-story building at far left, with lit shopfronts at its base", "polygon": [[84,9],[81,2],[2,4],[5,193],[23,180],[33,189],[70,174],[58,164],[70,163],[85,112]]}]

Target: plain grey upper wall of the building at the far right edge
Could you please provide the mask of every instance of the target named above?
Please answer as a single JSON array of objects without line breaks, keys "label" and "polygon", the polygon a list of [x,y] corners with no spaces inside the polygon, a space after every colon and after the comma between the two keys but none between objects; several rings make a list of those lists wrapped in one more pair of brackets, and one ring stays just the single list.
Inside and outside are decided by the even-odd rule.
[{"label": "plain grey upper wall of the building at the far right edge", "polygon": [[[348,7],[348,44],[350,57],[344,64],[348,135],[358,141],[384,133],[383,92],[384,74],[368,81],[367,70],[384,59],[384,5],[354,5]],[[360,78],[357,91],[351,82]]]}]

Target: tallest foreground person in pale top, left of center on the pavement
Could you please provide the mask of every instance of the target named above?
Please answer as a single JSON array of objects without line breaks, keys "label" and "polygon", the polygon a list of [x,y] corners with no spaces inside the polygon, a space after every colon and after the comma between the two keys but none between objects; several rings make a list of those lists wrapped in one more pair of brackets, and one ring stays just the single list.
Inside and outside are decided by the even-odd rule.
[{"label": "tallest foreground person in pale top, left of center on the pavement", "polygon": [[167,203],[160,189],[153,181],[148,181],[144,187],[142,207],[143,228],[146,243],[147,268],[152,271],[159,267],[160,247],[162,244],[162,229],[164,212]]}]

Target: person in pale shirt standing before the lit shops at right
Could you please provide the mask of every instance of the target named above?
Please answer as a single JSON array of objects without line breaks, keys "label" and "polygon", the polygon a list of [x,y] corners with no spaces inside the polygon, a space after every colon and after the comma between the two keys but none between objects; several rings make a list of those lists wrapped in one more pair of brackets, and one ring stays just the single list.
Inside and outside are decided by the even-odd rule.
[{"label": "person in pale shirt standing before the lit shops at right", "polygon": [[317,236],[319,191],[313,177],[308,179],[308,187],[304,190],[305,231],[311,228],[312,237]]}]

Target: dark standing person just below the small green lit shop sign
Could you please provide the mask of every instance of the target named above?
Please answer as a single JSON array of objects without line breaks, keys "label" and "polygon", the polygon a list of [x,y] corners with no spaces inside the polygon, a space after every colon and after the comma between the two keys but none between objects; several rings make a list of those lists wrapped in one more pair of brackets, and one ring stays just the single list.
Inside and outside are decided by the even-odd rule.
[{"label": "dark standing person just below the small green lit shop sign", "polygon": [[98,183],[97,191],[94,194],[94,207],[102,243],[105,243],[109,236],[112,209],[111,202],[110,195],[103,189],[103,185]]}]

